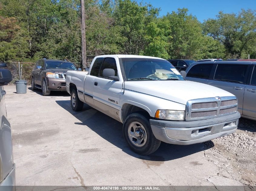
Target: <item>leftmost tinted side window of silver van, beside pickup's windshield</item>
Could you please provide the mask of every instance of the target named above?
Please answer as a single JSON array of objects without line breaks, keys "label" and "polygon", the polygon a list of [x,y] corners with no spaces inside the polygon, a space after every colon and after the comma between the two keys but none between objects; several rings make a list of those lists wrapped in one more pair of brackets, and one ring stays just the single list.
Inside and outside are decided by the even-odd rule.
[{"label": "leftmost tinted side window of silver van, beside pickup's windshield", "polygon": [[197,64],[194,65],[188,71],[187,77],[194,78],[206,78],[208,79],[211,73],[211,68],[213,64]]}]

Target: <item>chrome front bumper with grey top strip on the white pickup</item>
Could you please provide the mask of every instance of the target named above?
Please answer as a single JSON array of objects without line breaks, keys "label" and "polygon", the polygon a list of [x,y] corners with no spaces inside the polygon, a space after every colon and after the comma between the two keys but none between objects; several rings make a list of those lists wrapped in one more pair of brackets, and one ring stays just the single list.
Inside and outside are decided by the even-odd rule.
[{"label": "chrome front bumper with grey top strip on the white pickup", "polygon": [[160,141],[191,145],[229,135],[237,129],[240,113],[198,121],[165,121],[150,119],[153,134]]}]

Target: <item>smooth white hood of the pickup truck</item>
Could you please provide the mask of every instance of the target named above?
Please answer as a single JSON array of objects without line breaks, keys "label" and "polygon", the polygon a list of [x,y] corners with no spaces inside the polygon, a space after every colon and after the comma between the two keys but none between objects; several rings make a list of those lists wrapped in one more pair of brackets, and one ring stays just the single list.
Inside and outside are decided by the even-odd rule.
[{"label": "smooth white hood of the pickup truck", "polygon": [[194,81],[126,81],[125,89],[186,104],[188,100],[234,96],[211,85]]}]

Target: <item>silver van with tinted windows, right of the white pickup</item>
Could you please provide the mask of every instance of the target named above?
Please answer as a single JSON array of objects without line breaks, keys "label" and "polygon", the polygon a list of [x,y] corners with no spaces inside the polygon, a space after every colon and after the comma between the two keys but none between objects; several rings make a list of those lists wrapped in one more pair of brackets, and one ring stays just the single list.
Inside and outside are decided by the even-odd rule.
[{"label": "silver van with tinted windows, right of the white pickup", "polygon": [[209,84],[234,94],[242,117],[256,120],[256,62],[194,62],[182,73],[190,81]]}]

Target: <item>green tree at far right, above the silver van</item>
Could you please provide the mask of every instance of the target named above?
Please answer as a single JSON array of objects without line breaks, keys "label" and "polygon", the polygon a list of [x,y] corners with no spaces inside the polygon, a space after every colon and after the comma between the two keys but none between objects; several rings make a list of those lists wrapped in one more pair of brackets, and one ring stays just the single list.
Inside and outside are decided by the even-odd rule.
[{"label": "green tree at far right, above the silver van", "polygon": [[[245,58],[255,53],[256,12],[248,9],[238,14],[219,12],[216,19],[208,19],[203,24],[204,34],[221,42],[230,58]],[[255,55],[255,54],[254,54]]]}]

